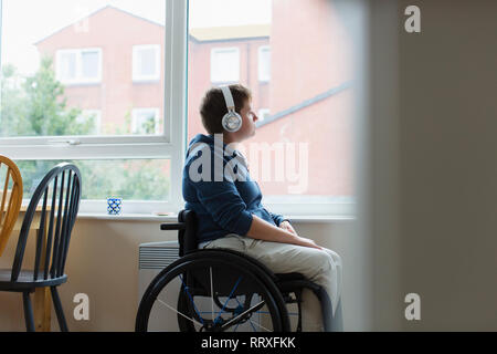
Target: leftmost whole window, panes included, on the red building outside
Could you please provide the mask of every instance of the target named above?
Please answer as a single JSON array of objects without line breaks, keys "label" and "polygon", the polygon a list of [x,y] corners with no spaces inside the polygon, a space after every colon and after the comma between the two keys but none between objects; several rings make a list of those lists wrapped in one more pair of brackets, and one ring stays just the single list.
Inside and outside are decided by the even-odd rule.
[{"label": "leftmost whole window, panes included, on the red building outside", "polygon": [[57,50],[56,77],[64,84],[98,83],[102,80],[102,50]]}]

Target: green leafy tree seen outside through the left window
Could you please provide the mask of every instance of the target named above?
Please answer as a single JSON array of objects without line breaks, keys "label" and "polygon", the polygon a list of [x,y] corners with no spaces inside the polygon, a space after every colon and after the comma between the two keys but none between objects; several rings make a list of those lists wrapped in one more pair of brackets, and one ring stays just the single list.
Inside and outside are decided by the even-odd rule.
[{"label": "green leafy tree seen outside through the left window", "polygon": [[[64,86],[56,80],[53,60],[43,58],[40,69],[22,77],[13,65],[2,70],[0,136],[87,135],[94,117],[82,118],[82,110],[68,107]],[[129,119],[129,117],[125,117]],[[76,160],[82,171],[84,199],[121,196],[128,199],[166,199],[169,176],[160,160]],[[29,198],[41,178],[57,160],[17,162]]]}]

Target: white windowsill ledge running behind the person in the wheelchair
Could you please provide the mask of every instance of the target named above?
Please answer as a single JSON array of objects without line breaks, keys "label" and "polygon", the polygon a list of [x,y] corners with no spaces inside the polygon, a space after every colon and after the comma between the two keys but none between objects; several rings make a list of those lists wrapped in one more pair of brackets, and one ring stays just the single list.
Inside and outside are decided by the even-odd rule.
[{"label": "white windowsill ledge running behind the person in the wheelchair", "polygon": [[[108,214],[92,214],[80,212],[77,215],[80,219],[91,220],[108,220],[108,221],[178,221],[177,215],[171,216],[157,216],[152,214],[121,214],[121,215],[108,215]],[[351,222],[356,218],[352,216],[286,216],[290,222]]]}]

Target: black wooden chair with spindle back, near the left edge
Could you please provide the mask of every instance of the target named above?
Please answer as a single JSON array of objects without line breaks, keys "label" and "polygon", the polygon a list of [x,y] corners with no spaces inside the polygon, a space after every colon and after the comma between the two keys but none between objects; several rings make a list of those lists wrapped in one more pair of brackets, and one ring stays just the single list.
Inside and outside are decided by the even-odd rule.
[{"label": "black wooden chair with spindle back, near the left edge", "polygon": [[[0,291],[22,292],[27,331],[34,332],[33,310],[30,293],[36,288],[50,287],[61,331],[67,331],[57,289],[67,281],[65,261],[71,241],[71,231],[76,221],[81,199],[80,169],[67,163],[52,168],[36,187],[19,233],[12,269],[0,270]],[[41,209],[39,208],[39,204]],[[36,210],[38,208],[38,210]],[[28,236],[35,212],[40,215],[36,233],[34,267],[22,269]],[[46,242],[43,244],[43,238]]]}]

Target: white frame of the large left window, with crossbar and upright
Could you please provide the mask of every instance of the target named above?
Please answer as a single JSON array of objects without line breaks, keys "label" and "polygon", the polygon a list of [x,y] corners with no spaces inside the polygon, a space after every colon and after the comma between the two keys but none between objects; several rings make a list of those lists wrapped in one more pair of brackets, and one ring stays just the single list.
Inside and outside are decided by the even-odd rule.
[{"label": "white frame of the large left window, with crossbar and upright", "polygon": [[[2,0],[0,0],[1,9]],[[0,20],[0,31],[1,29]],[[183,207],[181,174],[187,144],[187,1],[166,0],[163,31],[165,43],[162,43],[162,50],[166,55],[162,76],[168,77],[168,80],[165,80],[163,115],[159,117],[163,119],[163,131],[160,135],[1,137],[0,150],[2,154],[14,160],[170,159],[171,175],[168,200],[134,200],[127,204],[127,210],[140,214],[150,214],[155,210],[180,210]],[[101,61],[103,55],[101,54]],[[161,64],[160,60],[159,64]],[[28,200],[24,200],[24,204],[27,202]],[[80,210],[82,212],[104,214],[106,209],[101,207],[105,202],[105,200],[82,200]]]}]

